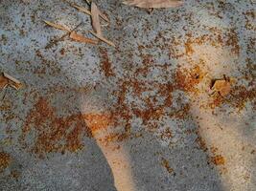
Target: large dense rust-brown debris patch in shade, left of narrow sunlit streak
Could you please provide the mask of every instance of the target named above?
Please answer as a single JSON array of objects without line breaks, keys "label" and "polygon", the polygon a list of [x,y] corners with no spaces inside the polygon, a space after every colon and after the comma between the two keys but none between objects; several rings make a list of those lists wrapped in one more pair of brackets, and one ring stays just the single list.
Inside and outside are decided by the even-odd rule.
[{"label": "large dense rust-brown debris patch in shade, left of narrow sunlit streak", "polygon": [[39,98],[22,128],[20,140],[25,147],[29,147],[26,137],[31,133],[36,135],[31,150],[41,158],[50,152],[80,150],[82,138],[91,136],[81,114],[57,117],[56,109],[44,97]]}]

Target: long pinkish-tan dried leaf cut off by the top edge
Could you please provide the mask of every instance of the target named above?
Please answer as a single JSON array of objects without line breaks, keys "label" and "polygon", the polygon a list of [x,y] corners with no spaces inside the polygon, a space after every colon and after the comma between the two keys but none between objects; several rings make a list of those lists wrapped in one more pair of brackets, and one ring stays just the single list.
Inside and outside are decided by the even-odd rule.
[{"label": "long pinkish-tan dried leaf cut off by the top edge", "polygon": [[138,8],[175,8],[181,6],[181,0],[127,0],[123,2],[128,6],[135,6]]}]

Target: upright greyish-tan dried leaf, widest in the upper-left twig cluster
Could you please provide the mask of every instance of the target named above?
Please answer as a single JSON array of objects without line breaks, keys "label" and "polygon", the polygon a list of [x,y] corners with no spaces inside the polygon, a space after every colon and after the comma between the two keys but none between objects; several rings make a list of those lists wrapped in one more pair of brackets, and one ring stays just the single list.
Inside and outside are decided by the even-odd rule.
[{"label": "upright greyish-tan dried leaf, widest in the upper-left twig cluster", "polygon": [[91,3],[91,19],[92,28],[99,36],[103,36],[102,27],[100,23],[100,11],[98,10],[95,3]]}]

